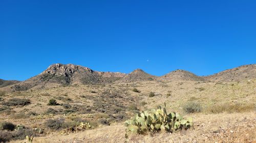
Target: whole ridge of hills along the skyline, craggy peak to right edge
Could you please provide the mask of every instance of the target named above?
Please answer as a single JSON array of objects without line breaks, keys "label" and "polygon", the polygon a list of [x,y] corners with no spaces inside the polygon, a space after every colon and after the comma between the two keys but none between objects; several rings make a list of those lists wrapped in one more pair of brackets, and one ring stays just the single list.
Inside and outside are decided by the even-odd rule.
[{"label": "whole ridge of hills along the skyline, craggy peak to right edge", "polygon": [[[12,91],[25,91],[28,89],[42,89],[63,85],[79,84],[105,84],[105,83],[129,83],[138,81],[241,81],[256,78],[256,65],[244,65],[237,68],[222,71],[209,76],[197,76],[185,70],[175,70],[163,76],[154,76],[136,69],[129,74],[120,72],[99,72],[88,67],[73,64],[53,64],[40,74],[22,82],[13,82],[6,86]],[[1,87],[1,85],[0,85]]]}]

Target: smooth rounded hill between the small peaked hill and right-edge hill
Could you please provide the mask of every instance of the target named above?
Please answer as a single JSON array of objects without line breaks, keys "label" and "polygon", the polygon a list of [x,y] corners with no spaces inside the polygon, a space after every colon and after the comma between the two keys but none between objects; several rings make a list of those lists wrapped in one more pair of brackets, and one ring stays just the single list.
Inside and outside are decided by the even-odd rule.
[{"label": "smooth rounded hill between the small peaked hill and right-edge hill", "polygon": [[190,80],[190,81],[204,81],[203,77],[197,76],[194,73],[185,70],[175,70],[167,73],[158,78],[159,80],[169,81],[169,80]]}]

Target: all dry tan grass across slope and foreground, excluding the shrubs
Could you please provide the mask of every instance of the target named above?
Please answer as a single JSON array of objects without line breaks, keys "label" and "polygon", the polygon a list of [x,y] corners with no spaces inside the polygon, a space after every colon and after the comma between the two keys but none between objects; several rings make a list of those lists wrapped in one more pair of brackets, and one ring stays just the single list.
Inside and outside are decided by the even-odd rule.
[{"label": "all dry tan grass across slope and foreground, excluding the shrubs", "polygon": [[[133,92],[131,89],[134,87],[136,87],[140,93]],[[193,142],[190,139],[194,139],[198,140],[198,142],[212,142],[212,140],[207,140],[207,137],[212,139],[215,135],[212,134],[212,132],[218,130],[219,127],[225,128],[227,131],[232,128],[236,129],[238,130],[236,134],[237,136],[252,140],[255,138],[252,136],[252,133],[256,130],[255,89],[256,79],[251,80],[249,84],[246,80],[221,84],[196,81],[142,81],[129,84],[76,85],[45,90],[14,93],[7,92],[5,93],[5,96],[1,97],[4,101],[0,102],[6,102],[9,99],[18,97],[20,99],[29,99],[31,103],[26,106],[11,106],[11,109],[8,111],[9,114],[8,112],[1,111],[0,120],[14,124],[23,124],[28,128],[45,128],[43,125],[46,120],[57,118],[79,119],[93,123],[101,118],[120,116],[121,112],[125,113],[125,116],[131,117],[132,111],[129,111],[129,106],[132,104],[137,105],[138,109],[147,109],[161,105],[164,102],[167,105],[168,111],[180,112],[187,116],[182,107],[185,103],[193,101],[200,103],[202,107],[201,113],[191,113],[189,115],[195,119],[195,130],[188,130],[185,133],[174,133],[172,135],[166,133],[160,133],[154,136],[132,135],[131,140],[133,142],[172,142],[170,140],[173,140],[174,142],[186,142],[188,139],[189,141],[187,142]],[[91,91],[95,91],[96,93],[92,93]],[[154,91],[155,96],[148,97],[148,93],[152,91]],[[109,93],[111,93],[111,96],[106,96]],[[168,93],[171,93],[171,96],[166,96]],[[63,104],[63,106],[47,105],[49,99],[56,99],[56,97],[59,96],[63,97],[63,99],[71,100],[58,100],[57,102]],[[67,103],[71,105],[68,109],[72,109],[75,112],[63,115],[64,111],[67,110],[65,108]],[[81,108],[79,110],[79,107],[91,106],[95,109],[96,105],[100,107],[100,105],[103,104],[104,106],[102,108],[104,109],[111,107],[112,104],[115,103],[119,103],[119,105],[122,105],[125,108],[115,107],[113,110],[120,110],[118,113],[108,112],[108,110],[105,112],[95,111],[92,113],[94,115],[93,117],[90,116],[90,111],[81,113],[81,111],[86,111],[87,108]],[[3,106],[0,106],[0,108],[2,107]],[[44,115],[48,108],[53,108],[58,112],[54,115]],[[23,116],[15,117],[15,115],[19,115],[19,113],[25,113],[25,115],[27,115],[29,112],[36,112],[38,115],[32,115],[27,118],[23,118]],[[104,113],[102,114],[102,112]],[[208,113],[210,114],[207,115]],[[243,122],[245,117],[248,120]],[[49,134],[46,134],[46,136],[43,137],[36,137],[34,142],[72,142],[75,139],[77,142],[123,142],[124,130],[125,127],[120,123],[114,125],[112,123],[111,126],[103,126],[94,130],[72,133],[69,135],[60,135],[56,131],[47,130]],[[248,135],[246,136],[246,134]],[[215,139],[217,142],[220,141],[218,138]],[[238,141],[234,140],[233,142]]]}]

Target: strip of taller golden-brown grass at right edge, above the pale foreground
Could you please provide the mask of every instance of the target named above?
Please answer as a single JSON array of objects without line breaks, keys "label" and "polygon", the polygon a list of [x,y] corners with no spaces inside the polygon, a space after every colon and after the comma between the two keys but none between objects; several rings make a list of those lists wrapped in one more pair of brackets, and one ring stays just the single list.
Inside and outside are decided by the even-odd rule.
[{"label": "strip of taller golden-brown grass at right edge, above the pale foreground", "polygon": [[246,112],[255,110],[256,106],[253,103],[223,103],[215,104],[206,108],[206,112],[221,113],[221,112]]}]

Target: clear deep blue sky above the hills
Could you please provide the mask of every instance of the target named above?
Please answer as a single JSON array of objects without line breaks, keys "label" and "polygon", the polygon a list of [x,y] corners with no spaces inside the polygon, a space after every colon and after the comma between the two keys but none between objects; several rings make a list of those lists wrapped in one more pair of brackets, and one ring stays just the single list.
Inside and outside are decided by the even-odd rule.
[{"label": "clear deep blue sky above the hills", "polygon": [[0,78],[54,63],[209,75],[256,63],[256,1],[0,2]]}]

